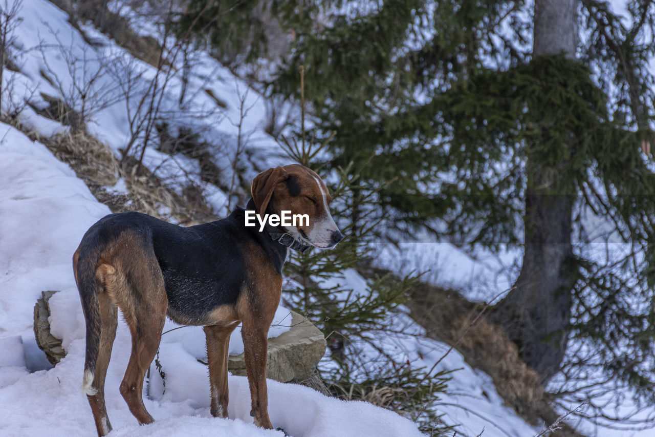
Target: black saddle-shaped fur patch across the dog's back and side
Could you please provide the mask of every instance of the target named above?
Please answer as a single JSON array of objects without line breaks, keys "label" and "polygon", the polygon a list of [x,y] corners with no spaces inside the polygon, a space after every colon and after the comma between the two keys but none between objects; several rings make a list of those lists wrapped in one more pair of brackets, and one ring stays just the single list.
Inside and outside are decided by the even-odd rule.
[{"label": "black saddle-shaped fur patch across the dog's back and side", "polygon": [[123,232],[136,235],[154,251],[166,286],[168,316],[187,325],[204,325],[208,312],[236,303],[252,273],[244,253],[252,245],[245,243],[256,242],[280,273],[287,255],[286,247],[245,226],[243,209],[188,228],[142,213],[115,213],[96,222],[83,241],[89,247],[105,247],[121,241]]}]

